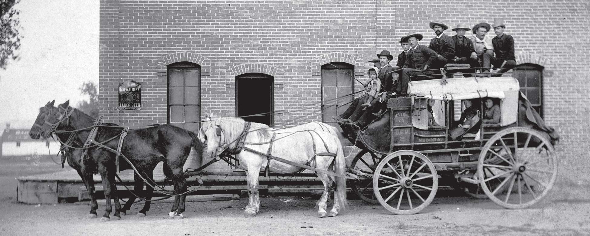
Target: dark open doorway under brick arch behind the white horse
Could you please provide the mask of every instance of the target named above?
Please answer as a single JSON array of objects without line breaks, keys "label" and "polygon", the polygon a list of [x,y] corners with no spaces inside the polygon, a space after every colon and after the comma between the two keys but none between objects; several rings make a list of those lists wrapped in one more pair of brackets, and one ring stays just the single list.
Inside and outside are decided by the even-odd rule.
[{"label": "dark open doorway under brick arch behind the white horse", "polygon": [[[274,77],[247,73],[235,77],[235,113],[247,122],[274,124]],[[260,114],[258,116],[251,116]]]}]

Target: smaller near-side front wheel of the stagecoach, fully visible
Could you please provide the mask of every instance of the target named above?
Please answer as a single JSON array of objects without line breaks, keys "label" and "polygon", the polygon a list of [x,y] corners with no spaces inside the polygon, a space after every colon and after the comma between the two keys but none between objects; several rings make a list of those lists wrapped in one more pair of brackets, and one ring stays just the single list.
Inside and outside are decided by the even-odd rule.
[{"label": "smaller near-side front wheel of the stagecoach, fully visible", "polygon": [[416,214],[437,194],[438,175],[422,153],[399,150],[379,162],[373,174],[373,191],[379,203],[395,214]]}]

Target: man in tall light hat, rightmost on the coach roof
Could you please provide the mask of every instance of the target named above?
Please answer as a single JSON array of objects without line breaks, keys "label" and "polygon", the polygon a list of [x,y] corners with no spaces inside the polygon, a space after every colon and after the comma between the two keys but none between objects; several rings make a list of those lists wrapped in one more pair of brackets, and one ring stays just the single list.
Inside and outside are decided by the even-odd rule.
[{"label": "man in tall light hat, rightmost on the coach roof", "polygon": [[496,37],[491,40],[491,44],[494,47],[494,53],[496,53],[496,56],[494,57],[494,55],[484,54],[483,67],[490,68],[491,65],[499,67],[500,70],[498,73],[494,74],[494,76],[501,76],[501,73],[510,70],[516,65],[516,60],[514,60],[514,38],[510,35],[504,34],[504,29],[506,28],[506,25],[504,25],[504,19],[494,19],[493,27],[494,32],[496,32]]}]

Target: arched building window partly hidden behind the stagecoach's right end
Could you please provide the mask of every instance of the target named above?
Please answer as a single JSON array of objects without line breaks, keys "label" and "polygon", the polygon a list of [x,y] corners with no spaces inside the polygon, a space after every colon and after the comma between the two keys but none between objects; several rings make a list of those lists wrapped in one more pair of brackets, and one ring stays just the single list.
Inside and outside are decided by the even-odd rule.
[{"label": "arched building window partly hidden behind the stagecoach's right end", "polygon": [[520,91],[525,93],[533,108],[543,116],[543,67],[537,64],[520,64],[513,68]]}]

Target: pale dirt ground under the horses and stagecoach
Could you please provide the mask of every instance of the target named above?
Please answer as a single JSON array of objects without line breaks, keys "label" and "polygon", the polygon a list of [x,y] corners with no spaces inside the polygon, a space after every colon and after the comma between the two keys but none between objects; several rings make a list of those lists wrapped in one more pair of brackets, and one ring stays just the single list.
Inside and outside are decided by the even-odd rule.
[{"label": "pale dirt ground under the horses and stagecoach", "polygon": [[[0,163],[0,235],[590,235],[590,185],[559,179],[528,209],[504,209],[487,199],[439,191],[415,215],[349,200],[348,212],[317,218],[309,196],[263,196],[260,213],[245,217],[247,199],[188,202],[183,219],[168,219],[171,203],[153,204],[147,217],[133,206],[120,221],[87,218],[84,204],[27,205],[16,199],[16,177],[61,171],[53,163]],[[67,166],[66,166],[67,168]],[[134,209],[135,208],[135,209]]]}]

